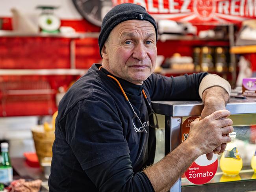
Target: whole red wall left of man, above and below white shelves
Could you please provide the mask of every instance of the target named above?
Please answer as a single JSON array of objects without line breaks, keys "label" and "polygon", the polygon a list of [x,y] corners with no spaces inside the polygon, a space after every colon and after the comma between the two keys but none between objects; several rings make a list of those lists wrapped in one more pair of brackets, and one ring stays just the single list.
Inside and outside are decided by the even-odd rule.
[{"label": "whole red wall left of man, above and below white shelves", "polygon": [[[98,32],[100,28],[86,20],[62,20],[77,32]],[[4,30],[12,30],[11,18],[4,18]],[[50,37],[0,37],[0,68],[70,68],[70,40]],[[96,38],[76,39],[76,68],[89,68],[100,62]],[[79,76],[0,76],[0,116],[53,114],[58,87],[67,88]],[[48,87],[44,88],[43,85]],[[13,95],[12,90],[52,90],[52,94]]]}]

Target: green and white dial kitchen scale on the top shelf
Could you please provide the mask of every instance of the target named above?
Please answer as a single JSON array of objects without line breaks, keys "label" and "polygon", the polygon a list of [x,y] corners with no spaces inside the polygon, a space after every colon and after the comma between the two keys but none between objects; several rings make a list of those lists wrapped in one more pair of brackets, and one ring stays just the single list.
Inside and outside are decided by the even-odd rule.
[{"label": "green and white dial kitchen scale on the top shelf", "polygon": [[61,24],[60,19],[54,15],[54,9],[59,7],[55,6],[37,6],[37,9],[42,9],[42,13],[39,15],[38,25],[42,32],[45,33],[59,33],[59,27]]}]

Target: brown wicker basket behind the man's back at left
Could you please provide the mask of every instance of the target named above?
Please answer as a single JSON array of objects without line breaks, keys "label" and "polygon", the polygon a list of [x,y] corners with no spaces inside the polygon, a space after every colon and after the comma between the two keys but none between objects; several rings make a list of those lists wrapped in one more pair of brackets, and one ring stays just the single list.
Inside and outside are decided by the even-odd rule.
[{"label": "brown wicker basket behind the man's back at left", "polygon": [[45,131],[43,125],[32,128],[32,135],[35,143],[35,151],[39,163],[45,157],[52,157],[52,144],[55,139],[54,130]]}]

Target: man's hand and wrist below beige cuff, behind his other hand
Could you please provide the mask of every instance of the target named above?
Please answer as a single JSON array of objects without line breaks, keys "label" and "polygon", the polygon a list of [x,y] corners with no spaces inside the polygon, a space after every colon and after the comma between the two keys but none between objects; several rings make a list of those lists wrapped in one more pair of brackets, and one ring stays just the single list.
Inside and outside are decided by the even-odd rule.
[{"label": "man's hand and wrist below beige cuff, behind his other hand", "polygon": [[[202,99],[204,102],[204,109],[201,113],[201,119],[204,119],[206,116],[212,114],[213,112],[221,109],[226,109],[226,102],[229,99],[228,93],[222,87],[210,87],[206,89],[202,94]],[[227,135],[223,135],[227,136]],[[213,153],[221,154],[226,148],[226,143],[217,146],[215,150],[206,154],[208,160],[211,160]]]}]

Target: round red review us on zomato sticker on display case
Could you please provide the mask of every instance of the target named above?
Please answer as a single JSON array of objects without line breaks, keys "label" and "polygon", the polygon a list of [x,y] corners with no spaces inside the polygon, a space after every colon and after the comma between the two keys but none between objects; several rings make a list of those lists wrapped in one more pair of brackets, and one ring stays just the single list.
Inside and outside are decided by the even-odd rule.
[{"label": "round red review us on zomato sticker on display case", "polygon": [[217,155],[209,161],[206,155],[198,157],[185,172],[187,179],[196,185],[208,183],[216,174],[218,168]]}]

